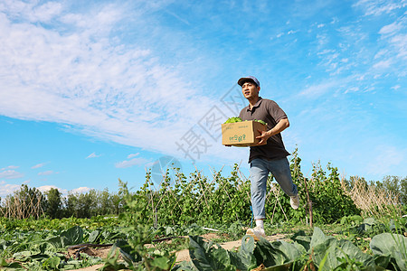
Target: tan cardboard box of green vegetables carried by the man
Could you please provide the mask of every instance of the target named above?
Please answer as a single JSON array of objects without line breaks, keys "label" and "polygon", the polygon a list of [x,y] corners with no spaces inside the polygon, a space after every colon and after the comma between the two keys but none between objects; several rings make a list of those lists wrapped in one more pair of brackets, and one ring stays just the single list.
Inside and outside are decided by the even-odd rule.
[{"label": "tan cardboard box of green vegetables carried by the man", "polygon": [[[258,121],[248,120],[222,124],[222,145],[252,146],[258,145],[261,135],[258,131],[267,131],[267,126]],[[261,144],[266,145],[267,142]]]}]

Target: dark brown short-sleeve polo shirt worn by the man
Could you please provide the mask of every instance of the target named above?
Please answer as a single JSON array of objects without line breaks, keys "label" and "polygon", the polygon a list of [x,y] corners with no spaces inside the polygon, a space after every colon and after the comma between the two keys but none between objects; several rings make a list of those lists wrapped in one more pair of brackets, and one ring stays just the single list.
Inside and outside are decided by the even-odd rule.
[{"label": "dark brown short-sleeve polo shirt worn by the man", "polygon": [[[281,119],[288,118],[286,113],[275,101],[261,97],[252,108],[248,106],[241,109],[239,117],[241,117],[241,120],[260,119],[267,123],[267,130],[276,126]],[[288,155],[289,152],[287,152],[284,147],[282,136],[279,133],[277,135],[271,135],[267,140],[267,145],[251,146],[249,163],[255,158],[277,160],[287,157]]]}]

